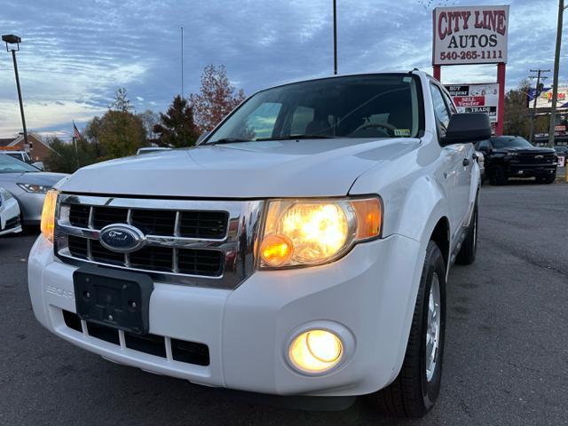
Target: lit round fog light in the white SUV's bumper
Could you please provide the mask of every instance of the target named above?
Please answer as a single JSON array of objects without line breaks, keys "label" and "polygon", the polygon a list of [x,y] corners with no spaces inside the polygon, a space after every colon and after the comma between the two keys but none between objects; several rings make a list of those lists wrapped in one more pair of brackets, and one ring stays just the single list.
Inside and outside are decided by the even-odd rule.
[{"label": "lit round fog light in the white SUV's bumper", "polygon": [[307,373],[323,373],[335,367],[342,356],[340,338],[326,330],[310,330],[298,335],[289,351],[294,367]]}]

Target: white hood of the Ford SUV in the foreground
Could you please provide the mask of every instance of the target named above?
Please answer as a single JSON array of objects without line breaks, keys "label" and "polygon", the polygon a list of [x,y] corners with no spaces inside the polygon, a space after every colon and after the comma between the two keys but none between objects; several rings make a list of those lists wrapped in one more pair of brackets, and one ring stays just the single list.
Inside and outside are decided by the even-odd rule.
[{"label": "white hood of the Ford SUV in the foreground", "polygon": [[420,139],[309,139],[196,146],[93,164],[62,191],[199,198],[341,196]]}]

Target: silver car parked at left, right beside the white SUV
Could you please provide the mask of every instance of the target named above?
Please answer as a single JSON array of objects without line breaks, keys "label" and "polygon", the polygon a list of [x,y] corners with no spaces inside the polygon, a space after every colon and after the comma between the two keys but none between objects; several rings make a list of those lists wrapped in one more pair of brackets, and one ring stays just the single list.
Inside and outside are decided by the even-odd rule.
[{"label": "silver car parked at left, right beside the white SUV", "polygon": [[12,193],[20,204],[23,225],[39,225],[45,193],[66,176],[62,173],[47,173],[6,154],[0,154],[0,186]]}]

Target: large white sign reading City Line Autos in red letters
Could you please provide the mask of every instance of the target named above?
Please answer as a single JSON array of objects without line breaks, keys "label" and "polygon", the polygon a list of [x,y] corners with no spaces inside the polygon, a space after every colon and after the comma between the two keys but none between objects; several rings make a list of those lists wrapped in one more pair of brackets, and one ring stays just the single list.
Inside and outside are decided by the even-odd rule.
[{"label": "large white sign reading City Line Autos in red letters", "polygon": [[437,7],[432,65],[507,62],[509,6]]}]

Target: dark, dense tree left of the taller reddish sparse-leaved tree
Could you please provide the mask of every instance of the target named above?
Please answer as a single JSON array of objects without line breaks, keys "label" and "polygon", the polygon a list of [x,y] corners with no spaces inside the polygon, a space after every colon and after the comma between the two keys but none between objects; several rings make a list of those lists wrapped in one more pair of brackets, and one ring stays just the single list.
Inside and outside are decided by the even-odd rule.
[{"label": "dark, dense tree left of the taller reddish sparse-leaved tree", "polygon": [[160,123],[154,126],[160,146],[193,146],[199,130],[193,122],[193,110],[186,99],[177,95],[166,114],[160,113]]}]

